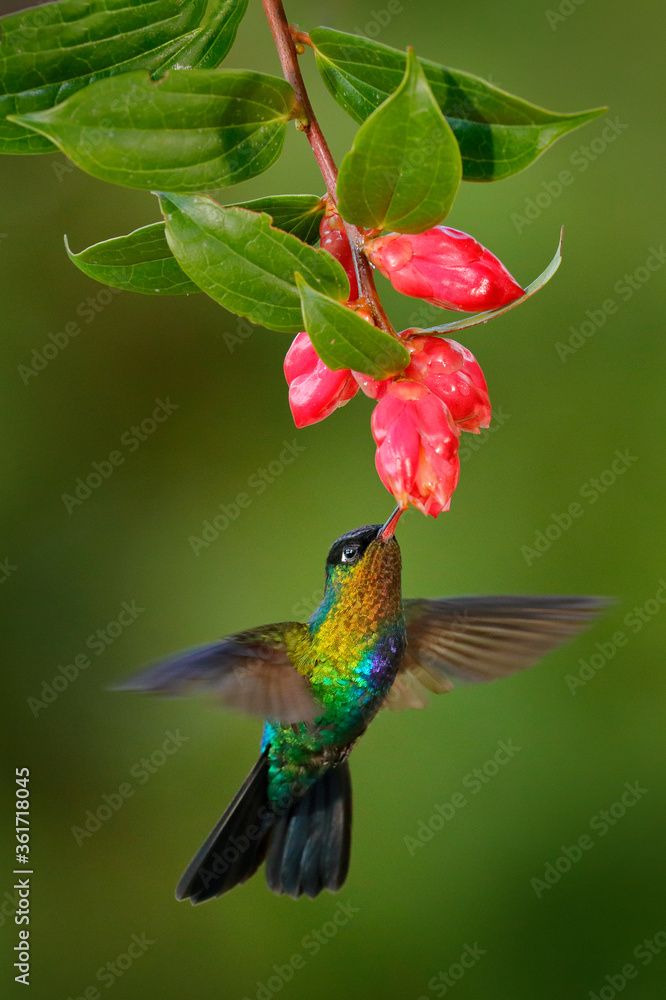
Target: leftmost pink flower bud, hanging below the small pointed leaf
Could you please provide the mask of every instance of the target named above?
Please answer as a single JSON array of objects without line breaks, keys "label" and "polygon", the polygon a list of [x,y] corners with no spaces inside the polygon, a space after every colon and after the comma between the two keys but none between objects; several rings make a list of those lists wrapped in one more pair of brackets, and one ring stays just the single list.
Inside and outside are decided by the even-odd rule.
[{"label": "leftmost pink flower bud, hanging below the small pointed leaf", "polygon": [[289,384],[289,406],[297,427],[316,424],[344,406],[358,392],[351,372],[331,371],[321,360],[307,333],[296,335],[284,359]]}]

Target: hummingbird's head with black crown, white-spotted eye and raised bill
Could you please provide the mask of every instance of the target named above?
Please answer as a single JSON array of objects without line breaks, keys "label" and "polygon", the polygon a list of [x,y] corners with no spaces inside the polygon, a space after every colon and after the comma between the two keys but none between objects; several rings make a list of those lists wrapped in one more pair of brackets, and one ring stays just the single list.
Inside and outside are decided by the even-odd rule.
[{"label": "hummingbird's head with black crown, white-spotted eye and raised bill", "polygon": [[[382,606],[387,614],[400,607],[400,546],[395,528],[400,507],[385,524],[368,524],[341,535],[326,559],[326,591],[344,603]],[[395,608],[394,608],[395,605]]]}]

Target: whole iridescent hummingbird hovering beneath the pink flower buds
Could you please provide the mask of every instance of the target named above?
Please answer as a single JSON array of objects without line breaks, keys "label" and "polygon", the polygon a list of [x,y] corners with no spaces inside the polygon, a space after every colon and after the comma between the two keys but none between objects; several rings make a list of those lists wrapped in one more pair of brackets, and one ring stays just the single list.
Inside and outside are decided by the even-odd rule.
[{"label": "whole iridescent hummingbird hovering beneath the pink flower buds", "polygon": [[266,864],[275,893],[335,892],[349,870],[349,755],[381,708],[423,708],[428,692],[531,666],[581,632],[598,597],[403,600],[395,538],[383,525],[342,535],[307,623],[280,622],[177,653],[121,683],[179,696],[207,691],[264,718],[259,759],[188,865],[176,898],[220,896]]}]

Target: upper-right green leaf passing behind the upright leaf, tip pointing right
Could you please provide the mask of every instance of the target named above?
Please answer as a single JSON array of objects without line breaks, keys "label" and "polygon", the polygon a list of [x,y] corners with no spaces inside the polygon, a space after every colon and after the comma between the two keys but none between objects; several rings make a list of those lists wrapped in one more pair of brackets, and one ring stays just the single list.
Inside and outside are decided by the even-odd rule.
[{"label": "upper-right green leaf passing behind the upright leaf, tip pointing right", "polygon": [[[406,58],[398,49],[330,28],[315,28],[310,40],[326,86],[357,122],[364,122],[400,85]],[[560,136],[607,110],[557,114],[469,73],[429,59],[419,63],[458,140],[466,181],[517,174]]]}]

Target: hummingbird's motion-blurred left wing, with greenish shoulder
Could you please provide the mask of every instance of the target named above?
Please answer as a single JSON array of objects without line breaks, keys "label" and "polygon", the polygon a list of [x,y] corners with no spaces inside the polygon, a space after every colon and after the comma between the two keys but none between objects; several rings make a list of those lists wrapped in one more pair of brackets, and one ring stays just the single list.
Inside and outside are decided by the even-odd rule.
[{"label": "hummingbird's motion-blurred left wing, with greenish shoulder", "polygon": [[252,715],[283,723],[311,722],[321,715],[321,705],[289,658],[289,648],[308,635],[301,622],[238,632],[176,653],[121,682],[116,690],[172,697],[210,693]]}]

